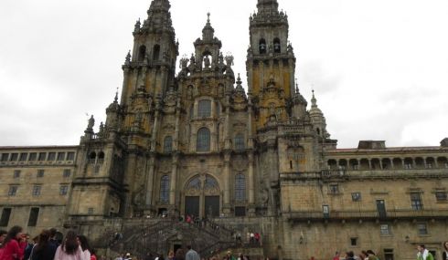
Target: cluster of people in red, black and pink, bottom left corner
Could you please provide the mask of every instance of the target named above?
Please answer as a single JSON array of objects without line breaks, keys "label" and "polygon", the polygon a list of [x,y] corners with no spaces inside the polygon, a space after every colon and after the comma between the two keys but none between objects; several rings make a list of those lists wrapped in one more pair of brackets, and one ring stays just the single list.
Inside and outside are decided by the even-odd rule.
[{"label": "cluster of people in red, black and pink, bottom left corner", "polygon": [[21,226],[0,231],[0,260],[97,260],[86,236],[69,231],[64,240],[57,230],[42,230],[30,241]]}]

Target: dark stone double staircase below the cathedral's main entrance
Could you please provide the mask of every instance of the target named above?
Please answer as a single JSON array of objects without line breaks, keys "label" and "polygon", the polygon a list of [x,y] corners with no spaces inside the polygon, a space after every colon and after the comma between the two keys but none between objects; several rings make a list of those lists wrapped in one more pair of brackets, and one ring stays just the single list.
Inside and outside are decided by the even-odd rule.
[{"label": "dark stone double staircase below the cathedral's main entrance", "polygon": [[166,255],[173,244],[191,244],[201,257],[208,257],[235,246],[233,233],[213,223],[188,224],[177,220],[147,219],[127,222],[120,234],[105,234],[103,244],[116,253],[130,252],[138,258],[147,254]]}]

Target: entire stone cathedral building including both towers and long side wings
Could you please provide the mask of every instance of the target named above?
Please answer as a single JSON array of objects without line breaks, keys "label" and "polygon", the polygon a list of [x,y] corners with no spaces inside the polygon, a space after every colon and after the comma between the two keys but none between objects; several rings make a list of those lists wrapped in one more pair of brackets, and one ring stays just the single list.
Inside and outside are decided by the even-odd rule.
[{"label": "entire stone cathedral building including both towers and long side wings", "polygon": [[[416,244],[441,257],[448,139],[337,149],[315,94],[308,102],[297,87],[277,0],[258,0],[250,16],[247,91],[209,17],[195,53],[177,60],[169,10],[153,0],[135,24],[122,95],[104,123],[91,117],[79,145],[0,147],[0,227],[75,229],[107,254],[193,244],[208,255],[256,232],[261,246],[247,254],[270,259],[366,249],[414,259]],[[220,231],[179,223],[186,216]]]}]

